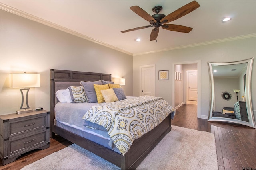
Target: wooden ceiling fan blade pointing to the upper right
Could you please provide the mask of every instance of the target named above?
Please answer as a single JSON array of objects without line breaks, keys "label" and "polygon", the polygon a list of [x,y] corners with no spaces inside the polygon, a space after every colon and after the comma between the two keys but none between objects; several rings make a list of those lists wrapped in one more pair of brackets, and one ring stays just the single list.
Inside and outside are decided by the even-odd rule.
[{"label": "wooden ceiling fan blade pointing to the upper right", "polygon": [[194,11],[199,6],[200,5],[198,4],[198,2],[192,1],[192,2],[182,6],[178,10],[176,10],[176,11],[170,13],[169,15],[165,16],[164,18],[162,18],[162,20],[160,20],[160,22],[163,22],[164,20],[167,20],[165,23],[168,23],[168,22],[177,20],[178,18]]}]

